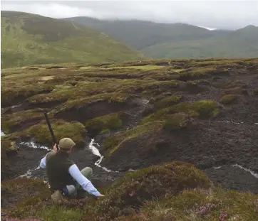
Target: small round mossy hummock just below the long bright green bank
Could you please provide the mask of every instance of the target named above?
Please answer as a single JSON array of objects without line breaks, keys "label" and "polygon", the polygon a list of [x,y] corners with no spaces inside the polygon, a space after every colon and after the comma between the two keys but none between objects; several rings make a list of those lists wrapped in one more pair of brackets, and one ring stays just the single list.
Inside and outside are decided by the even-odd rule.
[{"label": "small round mossy hummock just below the long bright green bank", "polygon": [[188,119],[187,115],[184,113],[170,114],[165,119],[163,123],[163,128],[168,131],[175,131],[179,129],[183,129],[187,126]]}]

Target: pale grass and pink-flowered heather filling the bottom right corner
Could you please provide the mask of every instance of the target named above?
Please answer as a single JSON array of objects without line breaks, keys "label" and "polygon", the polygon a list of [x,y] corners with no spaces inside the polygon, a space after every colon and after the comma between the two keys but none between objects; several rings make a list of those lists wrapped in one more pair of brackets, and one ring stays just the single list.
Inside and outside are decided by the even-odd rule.
[{"label": "pale grass and pink-flowered heather filling the bottom right corner", "polygon": [[[158,220],[247,220],[257,217],[257,195],[235,190],[185,190],[181,195],[167,195],[164,200],[147,202],[135,215],[120,221]],[[118,221],[117,220],[117,221]]]}]

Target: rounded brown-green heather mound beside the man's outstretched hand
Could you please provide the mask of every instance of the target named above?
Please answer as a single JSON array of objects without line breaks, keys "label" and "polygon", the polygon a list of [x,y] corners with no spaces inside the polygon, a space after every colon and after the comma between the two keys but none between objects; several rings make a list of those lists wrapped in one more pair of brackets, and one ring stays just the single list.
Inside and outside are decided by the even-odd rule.
[{"label": "rounded brown-green heather mound beside the man's outstretched hand", "polygon": [[160,200],[192,188],[210,188],[210,180],[189,163],[173,162],[127,173],[104,191],[105,198],[89,203],[86,213],[100,220],[112,220],[126,208],[137,210],[146,200]]}]

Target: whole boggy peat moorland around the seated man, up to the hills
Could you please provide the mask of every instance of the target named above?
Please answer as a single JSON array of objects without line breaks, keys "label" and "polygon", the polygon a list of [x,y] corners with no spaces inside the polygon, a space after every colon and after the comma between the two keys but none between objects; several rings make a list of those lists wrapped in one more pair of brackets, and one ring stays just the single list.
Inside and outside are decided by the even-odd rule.
[{"label": "whole boggy peat moorland around the seated man, up to the hills", "polygon": [[[257,75],[254,58],[1,70],[1,220],[256,220]],[[105,198],[53,205],[43,112]]]}]

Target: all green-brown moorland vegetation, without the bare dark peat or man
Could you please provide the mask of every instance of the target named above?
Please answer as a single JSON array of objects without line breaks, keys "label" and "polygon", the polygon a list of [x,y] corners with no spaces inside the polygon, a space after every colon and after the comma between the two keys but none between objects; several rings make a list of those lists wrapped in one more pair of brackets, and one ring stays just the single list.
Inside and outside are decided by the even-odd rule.
[{"label": "all green-brown moorland vegetation, without the bare dark peat or man", "polygon": [[[69,136],[78,146],[83,146],[86,130],[93,136],[109,131],[110,136],[103,141],[107,160],[128,150],[136,150],[133,154],[138,156],[155,156],[160,146],[165,151],[169,148],[164,145],[168,136],[190,132],[192,120],[202,126],[220,113],[220,104],[212,100],[217,92],[224,95],[229,90],[244,90],[242,81],[229,81],[232,78],[227,68],[232,68],[230,75],[236,72],[240,78],[254,63],[257,59],[211,58],[4,69],[1,119],[2,129],[9,134],[1,136],[1,175],[6,179],[17,174],[11,171],[17,162],[7,157],[19,154],[15,142],[35,137],[37,142],[51,143],[43,111],[49,112],[56,138]],[[249,73],[251,76],[253,72]],[[216,87],[210,87],[213,77],[217,77]],[[212,92],[196,95],[190,90],[201,86]],[[244,99],[242,92],[237,97]],[[8,107],[16,104],[21,106]],[[152,114],[143,118],[148,108]],[[19,155],[14,158],[19,161]],[[210,221],[219,220],[223,214],[228,220],[251,221],[257,217],[257,195],[215,188],[204,173],[188,163],[173,162],[128,173],[100,189],[105,198],[71,200],[62,206],[53,205],[48,187],[37,182],[19,179],[4,183],[7,206],[3,212],[19,219],[83,221]],[[202,206],[204,213],[200,212]]]}]

